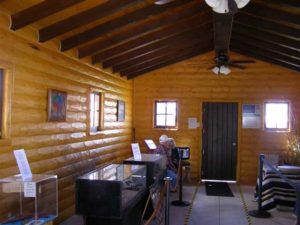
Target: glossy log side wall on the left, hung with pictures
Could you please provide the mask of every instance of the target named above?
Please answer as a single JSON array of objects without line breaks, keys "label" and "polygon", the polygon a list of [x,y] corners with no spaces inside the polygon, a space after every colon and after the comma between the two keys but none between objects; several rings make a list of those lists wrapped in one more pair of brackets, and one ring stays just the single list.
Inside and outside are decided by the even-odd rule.
[{"label": "glossy log side wall on the left, hung with pictures", "polygon": [[[0,67],[13,76],[9,132],[0,139],[0,178],[18,173],[13,150],[25,149],[32,172],[57,174],[59,218],[74,214],[74,184],[79,175],[131,155],[132,81],[59,53],[55,41],[38,44],[30,27],[13,32],[0,11]],[[9,65],[9,66],[7,66]],[[65,122],[47,122],[47,90],[67,92]],[[89,91],[104,93],[104,129],[88,131]],[[125,121],[117,122],[117,100],[125,101]],[[0,214],[5,212],[0,200]]]}]

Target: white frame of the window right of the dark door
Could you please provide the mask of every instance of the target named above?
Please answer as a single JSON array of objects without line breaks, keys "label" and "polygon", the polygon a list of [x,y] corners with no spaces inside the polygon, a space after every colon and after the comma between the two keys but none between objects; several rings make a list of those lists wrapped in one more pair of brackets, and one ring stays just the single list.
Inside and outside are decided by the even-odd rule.
[{"label": "white frame of the window right of the dark door", "polygon": [[[278,128],[278,127],[274,127],[274,128],[269,128],[267,127],[267,124],[266,124],[266,117],[268,116],[267,115],[267,104],[287,104],[287,127],[286,128]],[[288,132],[290,131],[290,122],[291,122],[291,103],[290,101],[282,101],[282,100],[270,100],[270,101],[266,101],[264,102],[264,130],[266,131],[271,131],[271,132]]]}]

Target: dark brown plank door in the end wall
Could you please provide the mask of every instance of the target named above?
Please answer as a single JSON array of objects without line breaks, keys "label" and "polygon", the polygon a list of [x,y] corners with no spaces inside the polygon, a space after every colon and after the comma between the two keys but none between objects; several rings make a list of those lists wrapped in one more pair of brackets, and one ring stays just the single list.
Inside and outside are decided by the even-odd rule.
[{"label": "dark brown plank door in the end wall", "polygon": [[204,102],[202,179],[236,180],[238,104]]}]

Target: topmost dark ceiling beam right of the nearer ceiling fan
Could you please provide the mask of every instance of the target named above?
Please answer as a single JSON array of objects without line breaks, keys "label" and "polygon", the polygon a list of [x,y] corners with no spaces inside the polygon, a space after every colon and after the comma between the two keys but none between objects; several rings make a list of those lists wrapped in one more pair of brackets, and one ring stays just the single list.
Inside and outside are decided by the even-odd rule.
[{"label": "topmost dark ceiling beam right of the nearer ceiling fan", "polygon": [[260,16],[262,18],[268,18],[268,20],[272,19],[282,23],[289,22],[300,25],[299,14],[287,13],[264,4],[257,4],[255,1],[241,9],[241,11],[255,16]]}]

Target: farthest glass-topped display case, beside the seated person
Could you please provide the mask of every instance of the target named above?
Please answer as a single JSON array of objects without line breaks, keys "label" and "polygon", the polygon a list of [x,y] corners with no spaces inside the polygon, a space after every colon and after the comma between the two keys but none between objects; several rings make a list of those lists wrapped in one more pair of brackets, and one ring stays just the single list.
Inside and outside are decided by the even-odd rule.
[{"label": "farthest glass-topped display case, beside the seated person", "polygon": [[166,171],[166,158],[159,154],[141,154],[141,159],[130,157],[123,161],[124,164],[146,165],[147,167],[147,187],[154,181],[162,181]]}]

